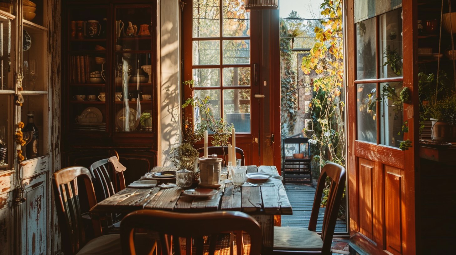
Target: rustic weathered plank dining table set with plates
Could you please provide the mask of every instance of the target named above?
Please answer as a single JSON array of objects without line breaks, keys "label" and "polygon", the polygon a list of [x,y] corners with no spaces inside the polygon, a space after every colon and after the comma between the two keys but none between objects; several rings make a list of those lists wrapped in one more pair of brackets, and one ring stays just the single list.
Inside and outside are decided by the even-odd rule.
[{"label": "rustic weathered plank dining table set with plates", "polygon": [[[224,170],[224,171],[223,171]],[[274,245],[274,215],[292,214],[290,201],[280,179],[270,178],[266,185],[235,186],[228,180],[223,168],[218,193],[209,198],[195,198],[182,193],[180,187],[163,189],[125,188],[96,204],[91,213],[128,213],[138,209],[158,209],[175,212],[208,212],[235,210],[254,217],[262,228],[263,247],[266,253]],[[247,173],[270,173],[279,176],[275,166],[247,166]],[[274,185],[272,185],[272,184]]]}]

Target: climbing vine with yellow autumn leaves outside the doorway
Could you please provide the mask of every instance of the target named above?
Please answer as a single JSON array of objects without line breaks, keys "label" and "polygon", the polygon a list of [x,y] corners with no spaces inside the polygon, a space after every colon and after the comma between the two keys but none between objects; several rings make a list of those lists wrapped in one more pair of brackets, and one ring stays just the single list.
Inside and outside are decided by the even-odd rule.
[{"label": "climbing vine with yellow autumn leaves outside the doorway", "polygon": [[301,64],[305,74],[313,70],[318,75],[309,104],[312,121],[303,133],[310,136],[320,166],[327,161],[345,165],[342,0],[324,0],[320,8],[323,20],[315,27],[316,43]]}]

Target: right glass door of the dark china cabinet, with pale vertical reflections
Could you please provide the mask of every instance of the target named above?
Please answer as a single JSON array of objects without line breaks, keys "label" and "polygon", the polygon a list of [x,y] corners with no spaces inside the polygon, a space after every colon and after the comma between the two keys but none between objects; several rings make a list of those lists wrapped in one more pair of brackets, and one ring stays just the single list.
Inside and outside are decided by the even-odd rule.
[{"label": "right glass door of the dark china cabinet, with pale vertical reflections", "polygon": [[115,7],[115,132],[151,132],[152,6]]}]

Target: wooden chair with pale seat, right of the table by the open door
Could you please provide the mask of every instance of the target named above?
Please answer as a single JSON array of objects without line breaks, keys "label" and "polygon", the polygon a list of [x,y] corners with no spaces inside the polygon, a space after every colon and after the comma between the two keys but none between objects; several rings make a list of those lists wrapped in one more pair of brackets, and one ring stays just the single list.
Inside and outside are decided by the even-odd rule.
[{"label": "wooden chair with pale seat, right of the table by the open door", "polygon": [[[316,223],[325,188],[326,177],[331,179],[321,236],[316,231]],[[321,170],[316,186],[309,227],[274,227],[274,254],[331,254],[332,236],[336,226],[337,213],[345,187],[345,168],[336,163],[327,163]]]}]

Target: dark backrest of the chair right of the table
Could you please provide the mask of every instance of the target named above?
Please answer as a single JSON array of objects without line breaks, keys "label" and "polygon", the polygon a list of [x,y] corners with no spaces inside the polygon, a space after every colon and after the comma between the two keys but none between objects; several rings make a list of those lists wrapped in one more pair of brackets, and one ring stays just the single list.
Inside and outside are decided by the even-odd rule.
[{"label": "dark backrest of the chair right of the table", "polygon": [[329,185],[329,194],[326,202],[325,215],[323,217],[323,226],[321,229],[321,239],[323,240],[322,253],[329,254],[331,250],[332,236],[336,226],[337,214],[339,211],[343,190],[345,187],[346,170],[336,163],[326,163],[320,173],[320,178],[315,191],[314,204],[312,206],[309,230],[316,230],[318,213],[320,210],[321,197],[323,189],[326,187],[326,178],[331,179]]}]

